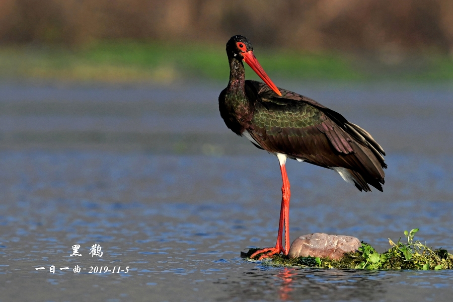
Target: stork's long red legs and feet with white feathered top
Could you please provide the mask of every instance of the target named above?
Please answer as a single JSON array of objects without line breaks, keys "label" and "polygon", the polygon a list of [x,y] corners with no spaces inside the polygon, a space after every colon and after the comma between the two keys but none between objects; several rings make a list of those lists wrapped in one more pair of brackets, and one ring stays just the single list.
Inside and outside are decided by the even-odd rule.
[{"label": "stork's long red legs and feet with white feathered top", "polygon": [[[280,254],[280,252],[287,255],[289,251],[289,198],[291,196],[291,192],[289,190],[289,180],[286,175],[285,168],[286,156],[278,154],[277,157],[280,162],[281,179],[283,181],[283,185],[281,186],[280,222],[278,224],[277,243],[275,244],[275,247],[256,251],[250,256],[250,258],[253,258],[258,254],[263,254],[259,258],[263,259],[275,254]],[[284,247],[282,242],[282,233],[284,234],[285,240]]]}]

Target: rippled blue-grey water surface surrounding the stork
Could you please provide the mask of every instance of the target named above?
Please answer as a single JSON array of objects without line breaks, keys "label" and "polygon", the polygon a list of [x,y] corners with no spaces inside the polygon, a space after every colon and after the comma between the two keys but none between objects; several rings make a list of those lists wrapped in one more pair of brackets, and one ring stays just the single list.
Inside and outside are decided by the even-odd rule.
[{"label": "rippled blue-grey water surface surrounding the stork", "polygon": [[[389,238],[419,228],[416,239],[451,252],[451,91],[378,88],[291,88],[369,130],[389,166],[384,192],[363,193],[333,171],[288,161],[291,240],[350,235],[383,252]],[[453,294],[450,271],[277,268],[240,258],[275,244],[281,177],[275,157],[222,124],[217,87],[2,89],[1,301]],[[102,257],[90,255],[95,244]],[[82,256],[70,256],[73,245]]]}]

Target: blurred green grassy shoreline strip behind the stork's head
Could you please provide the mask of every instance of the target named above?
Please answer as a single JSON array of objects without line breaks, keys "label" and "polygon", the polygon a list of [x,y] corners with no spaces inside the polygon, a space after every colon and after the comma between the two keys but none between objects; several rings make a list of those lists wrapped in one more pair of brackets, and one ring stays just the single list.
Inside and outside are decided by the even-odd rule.
[{"label": "blurred green grassy shoreline strip behind the stork's head", "polygon": [[[449,82],[446,55],[364,56],[255,49],[271,78],[310,81]],[[258,80],[247,66],[248,79]],[[229,66],[223,45],[99,42],[68,48],[0,46],[0,79],[66,82],[171,84],[180,80],[225,82]]]}]

